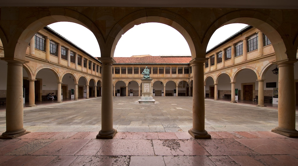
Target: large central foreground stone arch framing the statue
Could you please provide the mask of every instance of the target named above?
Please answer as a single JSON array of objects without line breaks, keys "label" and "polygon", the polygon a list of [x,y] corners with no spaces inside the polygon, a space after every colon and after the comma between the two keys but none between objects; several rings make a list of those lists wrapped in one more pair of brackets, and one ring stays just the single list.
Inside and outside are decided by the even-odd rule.
[{"label": "large central foreground stone arch framing the statue", "polygon": [[195,47],[201,45],[201,41],[195,29],[180,15],[164,9],[143,9],[133,12],[121,19],[112,29],[106,43],[111,49],[110,57],[114,57],[116,45],[125,32],[134,27],[134,25],[149,22],[166,24],[176,29],[187,41],[192,58],[196,57],[198,54],[197,51],[200,49],[195,49]]}]

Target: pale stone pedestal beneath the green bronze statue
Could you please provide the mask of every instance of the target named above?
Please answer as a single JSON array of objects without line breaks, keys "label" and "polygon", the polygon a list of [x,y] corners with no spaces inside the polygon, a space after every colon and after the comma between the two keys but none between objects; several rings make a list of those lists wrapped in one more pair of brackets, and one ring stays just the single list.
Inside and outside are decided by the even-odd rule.
[{"label": "pale stone pedestal beneath the green bronze statue", "polygon": [[150,104],[155,103],[151,93],[151,82],[152,79],[141,79],[142,80],[142,97],[139,99],[139,103]]}]

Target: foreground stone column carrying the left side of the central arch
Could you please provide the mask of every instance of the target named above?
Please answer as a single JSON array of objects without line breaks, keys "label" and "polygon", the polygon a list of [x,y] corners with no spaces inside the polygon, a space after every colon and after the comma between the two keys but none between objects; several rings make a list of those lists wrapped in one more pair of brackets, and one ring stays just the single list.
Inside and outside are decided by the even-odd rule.
[{"label": "foreground stone column carrying the left side of the central arch", "polygon": [[103,63],[102,74],[102,98],[101,98],[101,130],[96,138],[111,139],[117,133],[113,129],[113,96],[112,96],[112,64],[115,63],[113,58],[99,58]]}]

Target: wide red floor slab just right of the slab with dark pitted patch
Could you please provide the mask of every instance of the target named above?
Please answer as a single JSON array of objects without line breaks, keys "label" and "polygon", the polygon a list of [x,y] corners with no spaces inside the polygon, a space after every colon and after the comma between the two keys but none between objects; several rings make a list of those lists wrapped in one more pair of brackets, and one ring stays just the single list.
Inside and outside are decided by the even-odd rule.
[{"label": "wide red floor slab just right of the slab with dark pitted patch", "polygon": [[[248,140],[248,139],[243,139]],[[256,153],[234,139],[197,139],[212,156],[256,155]]]}]

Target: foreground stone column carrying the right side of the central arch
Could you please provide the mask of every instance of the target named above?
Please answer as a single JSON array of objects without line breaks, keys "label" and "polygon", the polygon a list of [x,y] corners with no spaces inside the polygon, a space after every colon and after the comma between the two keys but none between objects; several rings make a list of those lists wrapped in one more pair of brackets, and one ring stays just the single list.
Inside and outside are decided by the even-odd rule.
[{"label": "foreground stone column carrying the right side of the central arch", "polygon": [[206,58],[195,58],[193,64],[193,128],[188,132],[194,138],[211,138],[205,130],[204,62]]}]

